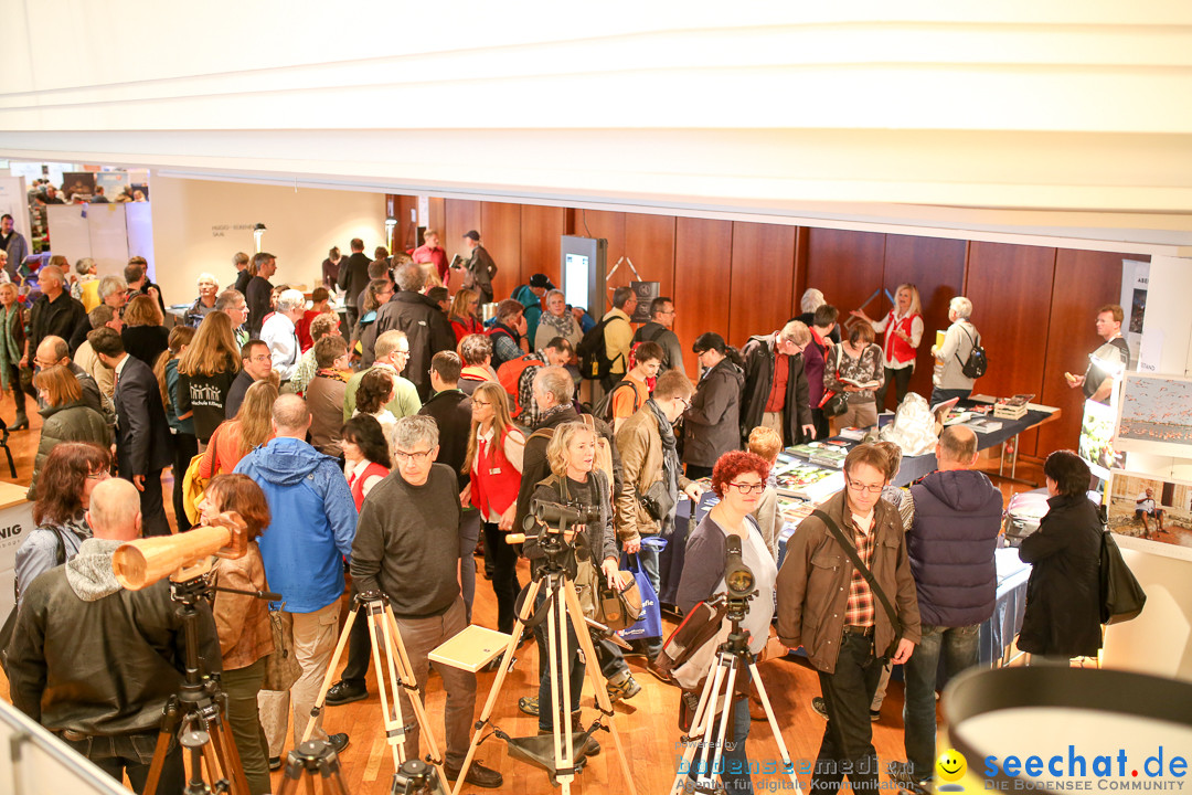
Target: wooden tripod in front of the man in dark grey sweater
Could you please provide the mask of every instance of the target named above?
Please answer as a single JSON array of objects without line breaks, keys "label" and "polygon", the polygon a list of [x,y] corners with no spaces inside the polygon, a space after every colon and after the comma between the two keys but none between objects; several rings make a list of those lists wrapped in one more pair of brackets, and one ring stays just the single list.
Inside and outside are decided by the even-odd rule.
[{"label": "wooden tripod in front of the man in dark grey sweater", "polygon": [[[323,678],[323,687],[319,688],[318,697],[315,700],[315,706],[310,710],[310,721],[308,721],[306,731],[303,733],[302,745],[306,745],[311,734],[315,732],[315,721],[323,710],[323,703],[327,700],[327,691],[331,688],[331,682],[335,679],[336,666],[340,663],[340,657],[343,656],[343,648],[348,645],[348,638],[352,634],[352,625],[355,622],[360,613],[366,613],[365,620],[368,621],[368,636],[372,639],[373,665],[377,671],[377,691],[380,694],[380,709],[384,716],[385,738],[389,743],[390,751],[393,754],[393,783],[391,791],[404,791],[403,789],[398,789],[398,787],[405,787],[403,783],[404,780],[399,778],[404,765],[408,764],[405,758],[405,735],[411,728],[410,725],[405,722],[402,702],[398,697],[401,688],[406,691],[406,695],[410,698],[410,704],[414,709],[414,719],[417,721],[422,737],[427,740],[427,747],[430,751],[427,758],[430,764],[434,765],[430,770],[433,774],[432,777],[436,782],[440,782],[434,789],[428,791],[433,795],[439,795],[440,793],[446,795],[446,790],[441,784],[441,782],[447,781],[442,769],[442,756],[439,753],[439,746],[435,743],[435,734],[430,728],[430,721],[428,720],[426,709],[422,706],[422,692],[418,690],[417,679],[414,677],[414,667],[410,665],[410,658],[405,652],[405,644],[402,641],[402,633],[397,628],[397,620],[393,619],[393,610],[389,605],[389,597],[379,591],[370,591],[367,594],[358,594],[355,602],[355,608],[348,614],[348,620],[343,625],[343,632],[340,633],[340,642],[335,647],[335,654],[331,657],[331,662],[327,666],[327,676]],[[385,648],[385,665],[381,665],[383,646]],[[386,673],[389,675],[387,690],[385,687]],[[420,760],[411,759],[410,762]],[[460,782],[462,781],[464,774],[461,772]],[[421,793],[422,789],[414,789],[410,791]]]}]

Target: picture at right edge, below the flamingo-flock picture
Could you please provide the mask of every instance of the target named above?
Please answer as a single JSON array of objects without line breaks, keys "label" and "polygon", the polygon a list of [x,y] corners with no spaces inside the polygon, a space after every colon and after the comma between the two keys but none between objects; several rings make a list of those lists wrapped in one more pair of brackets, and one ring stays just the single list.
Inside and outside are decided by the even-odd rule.
[{"label": "picture at right edge, below the flamingo-flock picture", "polygon": [[1155,552],[1179,547],[1192,559],[1192,483],[1113,470],[1107,493],[1110,530]]}]

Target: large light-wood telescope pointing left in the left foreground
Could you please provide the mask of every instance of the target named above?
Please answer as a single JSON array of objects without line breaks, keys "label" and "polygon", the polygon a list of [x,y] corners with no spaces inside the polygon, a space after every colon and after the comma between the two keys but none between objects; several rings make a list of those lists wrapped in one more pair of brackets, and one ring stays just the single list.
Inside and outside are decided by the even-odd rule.
[{"label": "large light-wood telescope pointing left in the left foreground", "polygon": [[174,582],[201,577],[211,571],[212,557],[235,559],[247,552],[248,526],[240,514],[228,511],[186,533],[122,544],[112,555],[112,571],[123,588],[138,591],[162,577]]}]

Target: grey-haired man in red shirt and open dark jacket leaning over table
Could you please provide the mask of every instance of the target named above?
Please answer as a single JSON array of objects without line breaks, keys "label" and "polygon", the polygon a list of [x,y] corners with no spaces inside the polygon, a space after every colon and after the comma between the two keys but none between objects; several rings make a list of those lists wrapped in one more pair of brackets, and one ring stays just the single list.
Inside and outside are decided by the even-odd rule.
[{"label": "grey-haired man in red shirt and open dark jacket leaning over table", "polygon": [[758,426],[782,434],[783,447],[815,439],[815,423],[803,372],[803,349],[812,333],[791,321],[774,334],[745,343],[745,390],[741,393],[741,435]]}]

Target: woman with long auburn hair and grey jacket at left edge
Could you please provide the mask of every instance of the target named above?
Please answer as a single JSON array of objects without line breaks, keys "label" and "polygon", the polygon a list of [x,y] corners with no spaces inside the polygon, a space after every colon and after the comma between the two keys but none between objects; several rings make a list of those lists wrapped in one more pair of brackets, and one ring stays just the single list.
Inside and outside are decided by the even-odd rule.
[{"label": "woman with long auburn hair and grey jacket at left edge", "polygon": [[[52,368],[51,368],[52,369]],[[17,548],[17,603],[21,592],[42,572],[61,566],[79,554],[91,538],[86,511],[91,492],[111,477],[112,454],[107,446],[66,442],[50,451],[42,466],[33,503],[33,524]]]}]

